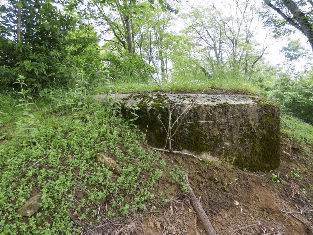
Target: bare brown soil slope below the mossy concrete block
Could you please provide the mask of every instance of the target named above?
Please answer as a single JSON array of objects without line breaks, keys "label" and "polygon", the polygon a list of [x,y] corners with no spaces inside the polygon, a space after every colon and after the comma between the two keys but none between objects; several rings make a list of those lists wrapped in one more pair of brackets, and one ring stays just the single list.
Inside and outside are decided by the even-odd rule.
[{"label": "bare brown soil slope below the mossy concrete block", "polygon": [[[162,153],[161,158],[170,169],[177,165],[188,170],[192,190],[218,234],[310,235],[312,164],[304,159],[299,146],[284,137],[281,142],[281,164],[273,172],[205,164],[181,154]],[[145,212],[107,221],[106,229],[85,227],[82,234],[205,234],[179,182],[163,173],[154,188],[156,200]],[[168,198],[171,200],[164,206],[162,201]]]}]

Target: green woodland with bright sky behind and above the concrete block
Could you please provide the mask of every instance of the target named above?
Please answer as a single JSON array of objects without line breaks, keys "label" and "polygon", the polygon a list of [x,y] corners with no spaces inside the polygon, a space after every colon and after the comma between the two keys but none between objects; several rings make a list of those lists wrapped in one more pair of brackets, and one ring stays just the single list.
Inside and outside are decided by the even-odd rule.
[{"label": "green woodland with bright sky behind and above the concrete block", "polygon": [[[271,2],[285,18],[266,1],[252,0],[226,1],[223,11],[213,3],[186,8],[176,1],[2,1],[1,94],[18,97],[18,78],[36,99],[157,90],[151,73],[165,90],[195,91],[209,83],[253,92],[311,123],[312,51],[288,38],[310,34],[293,25],[298,21],[288,6]],[[295,3],[312,27],[312,2]],[[280,66],[265,59],[275,57],[268,51],[274,38],[288,40]]]}]

